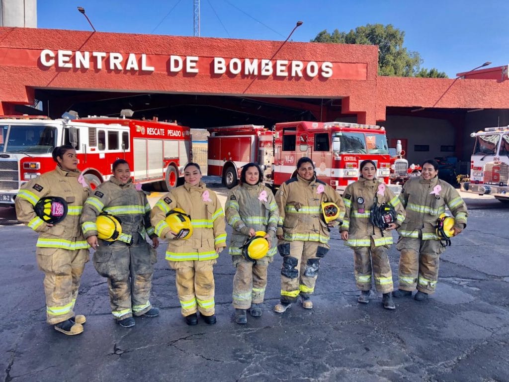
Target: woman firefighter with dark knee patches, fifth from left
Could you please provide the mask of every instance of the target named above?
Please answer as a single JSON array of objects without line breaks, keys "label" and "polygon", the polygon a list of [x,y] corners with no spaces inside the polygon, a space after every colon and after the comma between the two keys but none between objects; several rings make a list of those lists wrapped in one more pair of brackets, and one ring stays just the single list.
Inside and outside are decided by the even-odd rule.
[{"label": "woman firefighter with dark knee patches, fifth from left", "polygon": [[310,296],[315,291],[320,259],[330,248],[330,227],[341,224],[343,200],[331,186],[317,179],[312,160],[302,157],[297,162],[297,174],[279,187],[276,203],[280,216],[277,249],[283,264],[281,298],[274,311],[285,312],[299,294],[302,307],[313,309]]}]

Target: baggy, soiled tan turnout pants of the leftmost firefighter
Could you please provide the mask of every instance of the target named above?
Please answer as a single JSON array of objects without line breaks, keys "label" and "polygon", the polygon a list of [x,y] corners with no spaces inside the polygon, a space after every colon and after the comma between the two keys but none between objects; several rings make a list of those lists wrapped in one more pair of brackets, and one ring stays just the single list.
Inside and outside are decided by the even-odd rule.
[{"label": "baggy, soiled tan turnout pants of the leftmost firefighter", "polygon": [[89,250],[37,248],[37,264],[44,272],[46,321],[54,325],[74,317],[74,304]]}]

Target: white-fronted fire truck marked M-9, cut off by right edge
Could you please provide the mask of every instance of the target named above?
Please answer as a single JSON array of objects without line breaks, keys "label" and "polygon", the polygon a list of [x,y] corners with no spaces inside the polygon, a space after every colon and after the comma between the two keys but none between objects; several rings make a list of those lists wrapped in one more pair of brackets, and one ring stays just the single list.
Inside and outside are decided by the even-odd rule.
[{"label": "white-fronted fire truck marked M-9, cut off by right edge", "polygon": [[461,189],[509,202],[509,126],[488,127],[470,137],[475,138],[470,181],[462,182]]}]

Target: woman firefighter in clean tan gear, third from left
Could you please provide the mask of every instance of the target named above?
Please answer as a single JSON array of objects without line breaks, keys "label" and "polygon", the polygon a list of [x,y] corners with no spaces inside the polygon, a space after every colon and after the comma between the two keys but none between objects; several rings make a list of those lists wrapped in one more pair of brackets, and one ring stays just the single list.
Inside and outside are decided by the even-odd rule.
[{"label": "woman firefighter in clean tan gear, third from left", "polygon": [[176,270],[177,293],[188,325],[198,323],[197,311],[207,324],[216,323],[213,265],[226,247],[221,204],[201,179],[200,166],[187,163],[185,183],[164,195],[151,217],[157,235],[170,239],[166,260]]}]

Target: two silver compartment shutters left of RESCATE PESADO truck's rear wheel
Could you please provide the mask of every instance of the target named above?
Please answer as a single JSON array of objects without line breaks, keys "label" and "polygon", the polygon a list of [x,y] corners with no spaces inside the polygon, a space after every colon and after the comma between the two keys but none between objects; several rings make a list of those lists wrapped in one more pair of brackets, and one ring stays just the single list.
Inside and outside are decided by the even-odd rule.
[{"label": "two silver compartment shutters left of RESCATE PESADO truck's rear wheel", "polygon": [[133,139],[134,180],[145,181],[163,177],[163,142],[161,140]]}]

